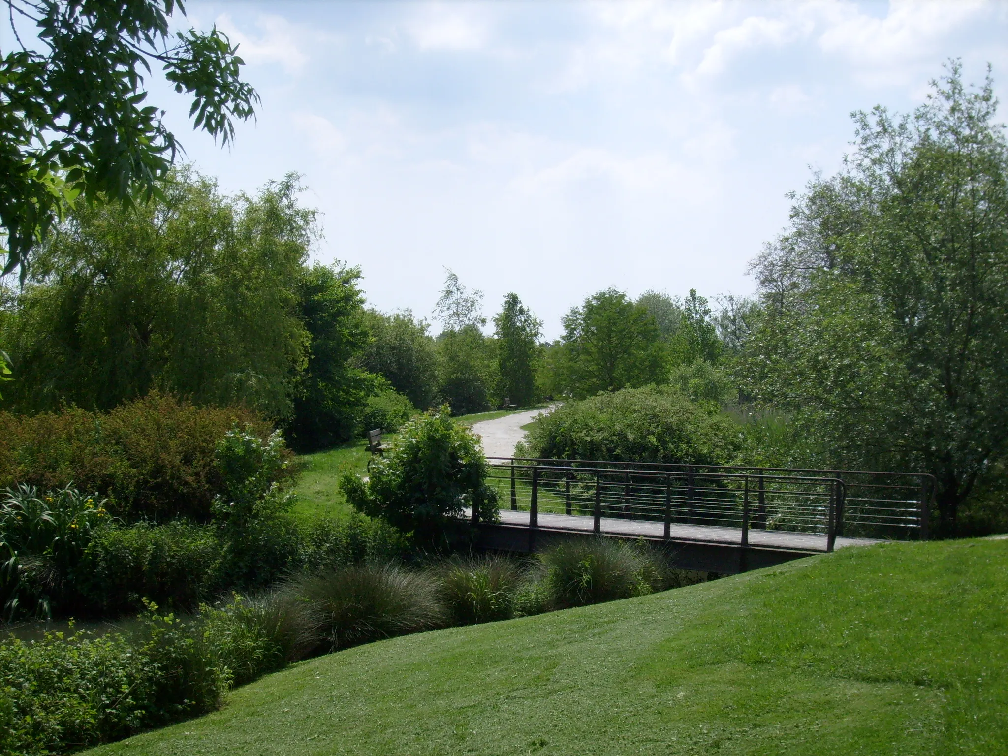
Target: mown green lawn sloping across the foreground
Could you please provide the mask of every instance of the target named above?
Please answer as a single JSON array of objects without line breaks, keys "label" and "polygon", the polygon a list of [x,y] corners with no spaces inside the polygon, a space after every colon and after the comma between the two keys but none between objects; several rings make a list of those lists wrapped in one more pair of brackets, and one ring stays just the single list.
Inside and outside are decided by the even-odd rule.
[{"label": "mown green lawn sloping across the foreground", "polygon": [[1008,753],[1008,541],[848,548],[397,638],[129,754]]}]

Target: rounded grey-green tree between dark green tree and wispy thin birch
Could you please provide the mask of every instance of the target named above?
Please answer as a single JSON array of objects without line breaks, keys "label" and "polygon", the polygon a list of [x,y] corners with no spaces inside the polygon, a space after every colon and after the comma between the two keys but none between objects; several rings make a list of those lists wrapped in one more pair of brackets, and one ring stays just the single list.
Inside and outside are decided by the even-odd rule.
[{"label": "rounded grey-green tree between dark green tree and wispy thin birch", "polygon": [[371,334],[361,358],[364,369],[380,375],[420,409],[430,407],[437,396],[437,349],[427,324],[414,320],[408,309],[392,314],[369,309],[364,322]]}]

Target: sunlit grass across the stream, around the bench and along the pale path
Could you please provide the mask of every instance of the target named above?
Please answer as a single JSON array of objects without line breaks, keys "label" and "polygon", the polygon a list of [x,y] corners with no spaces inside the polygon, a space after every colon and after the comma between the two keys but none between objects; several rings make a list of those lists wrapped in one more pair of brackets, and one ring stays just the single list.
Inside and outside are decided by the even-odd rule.
[{"label": "sunlit grass across the stream, around the bench and along the pale path", "polygon": [[[529,407],[496,412],[479,412],[456,417],[464,425],[472,425],[481,420],[493,420],[515,412],[524,412]],[[395,436],[387,434],[386,443]],[[297,504],[294,506],[295,516],[324,515],[327,517],[342,517],[351,511],[351,507],[340,492],[340,475],[349,470],[358,475],[365,475],[368,459],[367,440],[360,438],[348,444],[342,444],[325,452],[316,452],[298,457],[303,466],[301,477],[297,481]]]}]

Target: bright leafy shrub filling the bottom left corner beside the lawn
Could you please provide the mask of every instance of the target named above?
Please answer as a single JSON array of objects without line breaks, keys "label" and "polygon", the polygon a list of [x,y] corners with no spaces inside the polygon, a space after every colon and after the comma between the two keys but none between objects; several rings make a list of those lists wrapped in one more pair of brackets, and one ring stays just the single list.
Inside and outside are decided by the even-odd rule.
[{"label": "bright leafy shrub filling the bottom left corner beside the lawn", "polygon": [[211,711],[229,673],[210,641],[153,605],[126,633],[11,636],[0,643],[8,752],[82,748]]}]

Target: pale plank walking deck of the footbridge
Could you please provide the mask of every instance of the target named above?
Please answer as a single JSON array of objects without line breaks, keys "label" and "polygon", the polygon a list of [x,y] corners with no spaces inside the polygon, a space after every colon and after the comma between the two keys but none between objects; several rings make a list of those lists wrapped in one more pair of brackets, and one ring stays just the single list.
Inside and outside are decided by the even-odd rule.
[{"label": "pale plank walking deck of the footbridge", "polygon": [[[528,527],[528,512],[501,509],[500,517],[502,525]],[[540,511],[538,520],[540,530],[565,530],[591,533],[595,527],[595,519],[585,515],[554,514]],[[623,537],[642,536],[648,539],[660,539],[664,536],[664,523],[603,517],[601,520],[601,531],[603,534],[608,535]],[[670,538],[676,541],[739,546],[742,542],[742,529],[718,525],[672,523]],[[864,546],[879,542],[871,538],[845,538],[838,536],[834,548]],[[749,546],[755,548],[780,548],[817,552],[827,550],[827,538],[825,535],[816,535],[815,533],[794,533],[784,530],[759,530],[750,528]]]}]

